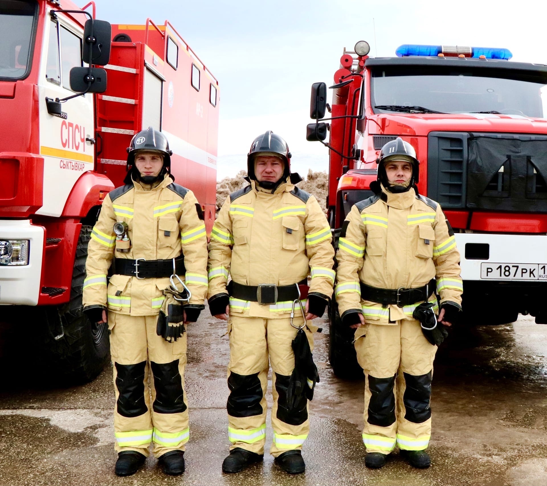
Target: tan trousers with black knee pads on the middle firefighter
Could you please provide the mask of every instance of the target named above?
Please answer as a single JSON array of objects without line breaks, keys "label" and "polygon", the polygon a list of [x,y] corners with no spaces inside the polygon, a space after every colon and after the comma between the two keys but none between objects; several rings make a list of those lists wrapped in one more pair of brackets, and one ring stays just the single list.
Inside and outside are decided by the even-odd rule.
[{"label": "tan trousers with black knee pads on the middle firefighter", "polygon": [[[301,316],[294,318],[297,326],[301,326],[303,321]],[[311,326],[311,321],[308,324]],[[313,350],[312,332],[307,327],[304,330]],[[274,399],[271,414],[274,438],[270,453],[278,456],[287,450],[302,449],[310,431],[308,400],[304,396],[291,408],[286,401],[288,381],[294,370],[291,343],[298,331],[290,325],[288,317],[264,319],[233,314],[228,322],[228,331],[230,396],[226,408],[230,449],[239,447],[264,454],[270,364]]]}]

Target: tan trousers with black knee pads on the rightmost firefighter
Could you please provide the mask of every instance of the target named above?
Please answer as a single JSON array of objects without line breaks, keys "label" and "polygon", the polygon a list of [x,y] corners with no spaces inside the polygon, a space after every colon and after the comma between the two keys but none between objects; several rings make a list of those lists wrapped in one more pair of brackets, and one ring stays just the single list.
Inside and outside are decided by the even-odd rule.
[{"label": "tan trousers with black knee pads on the rightmost firefighter", "polygon": [[431,379],[437,346],[417,320],[366,323],[356,331],[365,374],[363,442],[367,452],[423,450],[431,435]]}]

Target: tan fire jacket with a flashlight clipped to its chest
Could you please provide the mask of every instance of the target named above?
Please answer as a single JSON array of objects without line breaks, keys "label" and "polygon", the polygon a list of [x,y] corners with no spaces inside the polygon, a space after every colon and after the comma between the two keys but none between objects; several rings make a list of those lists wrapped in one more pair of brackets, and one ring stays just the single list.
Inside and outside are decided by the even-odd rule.
[{"label": "tan fire jacket with a flashlight clipped to its chest", "polygon": [[[169,278],[113,275],[107,285],[110,262],[113,257],[171,259],[181,253],[186,274],[179,277],[192,292],[190,304],[202,308],[207,294],[207,234],[201,214],[193,192],[174,184],[168,174],[149,191],[134,181],[110,191],[91,233],[84,308],[108,306],[120,314],[158,314],[164,301],[162,290],[169,285]],[[129,253],[115,251],[113,227],[117,221],[129,226]]]}]

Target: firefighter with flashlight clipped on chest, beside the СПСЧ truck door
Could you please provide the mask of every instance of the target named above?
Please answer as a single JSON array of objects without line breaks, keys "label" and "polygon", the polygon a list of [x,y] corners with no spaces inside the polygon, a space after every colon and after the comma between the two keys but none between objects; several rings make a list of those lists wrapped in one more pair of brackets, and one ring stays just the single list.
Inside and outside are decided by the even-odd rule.
[{"label": "firefighter with flashlight clipped on chest, beside the \u0421\u041f\u0421\u0427 truck door", "polygon": [[207,235],[194,194],[173,183],[165,136],[150,127],[127,150],[126,185],[109,192],[91,233],[84,312],[104,322],[108,309],[115,473],[135,473],[154,443],[164,472],[178,475],[189,437],[184,324],[204,307]]}]

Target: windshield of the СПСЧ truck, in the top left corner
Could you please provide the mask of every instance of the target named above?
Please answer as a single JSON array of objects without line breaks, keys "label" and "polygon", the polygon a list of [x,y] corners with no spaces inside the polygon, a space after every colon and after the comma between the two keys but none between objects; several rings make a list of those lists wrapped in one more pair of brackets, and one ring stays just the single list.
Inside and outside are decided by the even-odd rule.
[{"label": "windshield of the \u0421\u041f\u0421\u0427 truck, in the top left corner", "polygon": [[28,75],[37,7],[36,1],[0,2],[0,80]]}]

